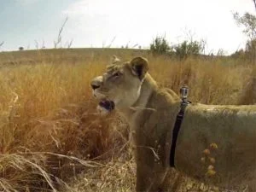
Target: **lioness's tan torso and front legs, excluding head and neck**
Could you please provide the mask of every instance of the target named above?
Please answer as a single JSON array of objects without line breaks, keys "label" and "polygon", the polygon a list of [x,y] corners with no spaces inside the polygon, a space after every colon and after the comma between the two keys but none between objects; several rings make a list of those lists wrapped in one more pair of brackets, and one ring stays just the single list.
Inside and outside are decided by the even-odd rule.
[{"label": "lioness's tan torso and front legs, excluding head and neck", "polygon": [[[138,111],[131,118],[133,121],[130,121],[137,145],[137,166],[140,167],[138,179],[139,172],[143,172],[137,182],[137,185],[142,187],[141,190],[152,181],[161,183],[168,172],[172,129],[179,110],[177,96],[174,100],[169,91],[156,87],[154,89],[148,103],[141,106],[154,110]],[[140,105],[137,103],[137,106]],[[211,143],[216,143],[218,148],[210,150],[211,154],[207,156],[203,151],[210,148]],[[160,158],[157,162],[156,154]],[[214,158],[215,163],[207,163],[207,160],[202,162],[201,158],[204,157]],[[202,182],[224,187],[248,184],[252,191],[255,191],[256,106],[190,104],[185,110],[183,124],[177,137],[175,165],[178,171]],[[214,166],[216,173],[207,177],[207,168],[210,165]],[[156,177],[153,177],[154,166],[156,170],[161,170]],[[152,181],[145,177],[149,175],[152,175]],[[155,186],[160,188],[158,184]],[[154,190],[153,187],[152,191]]]}]

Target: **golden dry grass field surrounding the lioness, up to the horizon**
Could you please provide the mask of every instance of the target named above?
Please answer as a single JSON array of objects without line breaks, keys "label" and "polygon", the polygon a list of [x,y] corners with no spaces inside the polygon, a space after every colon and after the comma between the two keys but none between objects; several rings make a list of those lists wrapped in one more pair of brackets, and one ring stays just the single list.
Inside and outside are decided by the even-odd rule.
[{"label": "golden dry grass field surrounding the lioness, up to the horizon", "polygon": [[[176,92],[188,84],[192,102],[256,103],[256,66],[241,58],[178,60],[143,49],[2,52],[1,191],[134,191],[129,127],[117,114],[102,118],[90,90],[113,54],[123,61],[147,57],[154,79]],[[175,177],[177,191],[223,191]]]}]

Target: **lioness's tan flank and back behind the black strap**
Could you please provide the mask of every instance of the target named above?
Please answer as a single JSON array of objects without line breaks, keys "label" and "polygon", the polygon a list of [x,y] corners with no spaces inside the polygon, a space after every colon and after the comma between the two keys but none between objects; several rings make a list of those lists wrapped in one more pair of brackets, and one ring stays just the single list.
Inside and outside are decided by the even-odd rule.
[{"label": "lioness's tan flank and back behind the black strap", "polygon": [[[202,151],[216,143],[218,149]],[[189,106],[177,138],[177,169],[195,178],[231,187],[248,184],[256,191],[256,106]],[[214,163],[201,158],[214,158]],[[207,166],[215,175],[206,177]]]}]

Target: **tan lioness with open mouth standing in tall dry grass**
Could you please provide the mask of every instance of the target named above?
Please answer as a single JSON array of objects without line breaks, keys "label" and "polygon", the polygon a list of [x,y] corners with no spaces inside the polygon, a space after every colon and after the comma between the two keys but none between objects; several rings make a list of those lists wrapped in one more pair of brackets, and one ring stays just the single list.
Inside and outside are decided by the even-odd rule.
[{"label": "tan lioness with open mouth standing in tall dry grass", "polygon": [[[143,57],[127,62],[115,58],[91,87],[98,107],[106,113],[116,109],[131,127],[137,191],[172,191],[166,175],[180,110],[177,94],[158,86]],[[175,167],[202,182],[242,184],[255,192],[256,106],[189,104],[177,136]]]}]

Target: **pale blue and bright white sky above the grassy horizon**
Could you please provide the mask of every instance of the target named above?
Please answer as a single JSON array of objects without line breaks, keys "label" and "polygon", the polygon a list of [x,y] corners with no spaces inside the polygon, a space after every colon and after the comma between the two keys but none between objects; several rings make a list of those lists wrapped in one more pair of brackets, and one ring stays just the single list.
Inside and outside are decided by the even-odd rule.
[{"label": "pale blue and bright white sky above the grassy horizon", "polygon": [[193,37],[207,42],[207,53],[231,54],[246,36],[232,13],[256,13],[252,0],[0,0],[0,51],[53,48],[61,24],[62,43],[73,48],[148,48],[165,36],[172,44]]}]

